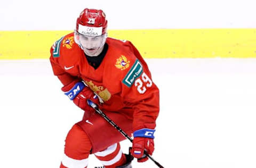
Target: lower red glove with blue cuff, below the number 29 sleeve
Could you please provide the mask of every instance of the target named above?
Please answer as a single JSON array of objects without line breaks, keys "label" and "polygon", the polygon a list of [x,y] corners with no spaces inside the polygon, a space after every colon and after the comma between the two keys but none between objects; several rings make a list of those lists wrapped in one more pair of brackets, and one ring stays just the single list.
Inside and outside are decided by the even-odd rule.
[{"label": "lower red glove with blue cuff, below the number 29 sleeve", "polygon": [[149,155],[154,152],[154,132],[153,129],[140,129],[133,132],[132,155],[138,158],[138,162],[145,162],[148,157],[144,154],[144,150]]}]

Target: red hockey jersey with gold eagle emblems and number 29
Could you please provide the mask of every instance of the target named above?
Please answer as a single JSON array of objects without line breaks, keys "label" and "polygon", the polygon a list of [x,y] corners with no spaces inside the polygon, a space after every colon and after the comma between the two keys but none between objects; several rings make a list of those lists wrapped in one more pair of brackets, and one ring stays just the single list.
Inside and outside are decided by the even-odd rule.
[{"label": "red hockey jersey with gold eagle emblems and number 29", "polygon": [[107,38],[108,50],[94,69],[74,33],[57,40],[51,48],[54,75],[63,85],[83,80],[103,100],[102,111],[122,113],[133,120],[133,131],[155,128],[159,112],[159,90],[151,80],[146,62],[130,41]]}]

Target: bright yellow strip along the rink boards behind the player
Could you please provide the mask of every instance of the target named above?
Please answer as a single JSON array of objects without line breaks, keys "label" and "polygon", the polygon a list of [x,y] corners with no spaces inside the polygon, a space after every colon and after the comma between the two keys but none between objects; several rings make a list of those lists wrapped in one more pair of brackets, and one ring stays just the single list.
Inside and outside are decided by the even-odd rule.
[{"label": "bright yellow strip along the rink boards behind the player", "polygon": [[[0,31],[0,60],[49,58],[67,31]],[[256,29],[109,30],[130,40],[145,58],[255,58]]]}]

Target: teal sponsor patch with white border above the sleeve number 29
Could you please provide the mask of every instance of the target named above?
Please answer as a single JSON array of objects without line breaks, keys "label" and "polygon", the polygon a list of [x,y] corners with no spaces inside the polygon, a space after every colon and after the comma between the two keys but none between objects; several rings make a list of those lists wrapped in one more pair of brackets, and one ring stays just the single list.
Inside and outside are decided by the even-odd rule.
[{"label": "teal sponsor patch with white border above the sleeve number 29", "polygon": [[139,60],[137,59],[134,64],[132,65],[131,69],[129,70],[129,72],[125,75],[124,79],[123,79],[123,83],[127,86],[127,87],[131,87],[132,84],[134,83],[135,79],[138,78],[140,76],[140,74],[142,73],[143,68],[141,63],[139,62]]}]

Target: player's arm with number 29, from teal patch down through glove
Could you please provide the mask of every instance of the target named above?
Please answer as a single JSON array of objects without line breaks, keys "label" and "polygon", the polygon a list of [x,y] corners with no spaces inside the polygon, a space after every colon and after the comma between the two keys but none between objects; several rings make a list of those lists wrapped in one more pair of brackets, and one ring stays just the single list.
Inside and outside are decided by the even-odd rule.
[{"label": "player's arm with number 29, from teal patch down through glove", "polygon": [[132,105],[133,113],[133,148],[132,155],[139,162],[147,161],[144,149],[149,154],[154,151],[154,132],[159,113],[159,90],[151,80],[150,72],[143,69],[137,60],[123,80],[125,101]]}]

